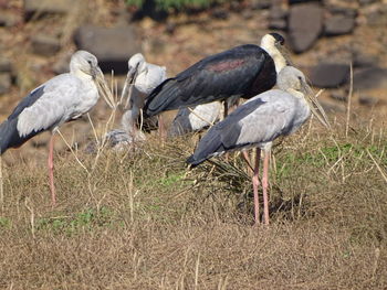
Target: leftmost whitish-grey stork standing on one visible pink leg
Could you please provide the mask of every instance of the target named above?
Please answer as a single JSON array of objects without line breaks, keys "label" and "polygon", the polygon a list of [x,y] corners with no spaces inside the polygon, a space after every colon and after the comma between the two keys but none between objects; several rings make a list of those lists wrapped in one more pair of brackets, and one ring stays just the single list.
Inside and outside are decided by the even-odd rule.
[{"label": "leftmost whitish-grey stork standing on one visible pink leg", "polygon": [[43,131],[51,131],[48,165],[53,206],[56,203],[53,176],[54,133],[64,122],[90,111],[100,94],[112,107],[107,92],[97,58],[86,51],[76,51],[71,56],[69,73],[57,75],[33,89],[0,125],[0,154],[9,148],[21,147]]}]

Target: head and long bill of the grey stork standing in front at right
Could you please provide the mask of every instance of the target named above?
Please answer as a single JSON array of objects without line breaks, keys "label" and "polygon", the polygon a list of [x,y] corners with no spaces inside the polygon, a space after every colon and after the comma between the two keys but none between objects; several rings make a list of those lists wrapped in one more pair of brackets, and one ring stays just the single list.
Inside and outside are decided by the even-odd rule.
[{"label": "head and long bill of the grey stork standing in front at right", "polygon": [[326,128],[331,128],[326,114],[323,107],[320,105],[316,95],[313,94],[311,86],[307,84],[305,75],[293,66],[285,66],[279,73],[276,84],[282,90],[296,92],[304,97],[311,108],[311,111],[321,123]]}]

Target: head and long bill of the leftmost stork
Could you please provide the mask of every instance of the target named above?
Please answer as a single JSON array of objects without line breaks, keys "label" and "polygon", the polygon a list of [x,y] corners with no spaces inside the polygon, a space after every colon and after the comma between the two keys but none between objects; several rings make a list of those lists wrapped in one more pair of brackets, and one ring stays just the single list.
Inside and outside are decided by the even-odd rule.
[{"label": "head and long bill of the leftmost stork", "polygon": [[107,105],[113,108],[114,100],[109,88],[106,85],[104,74],[102,73],[98,61],[95,55],[86,51],[75,52],[70,61],[70,72],[81,79],[92,79],[100,94],[104,97]]}]

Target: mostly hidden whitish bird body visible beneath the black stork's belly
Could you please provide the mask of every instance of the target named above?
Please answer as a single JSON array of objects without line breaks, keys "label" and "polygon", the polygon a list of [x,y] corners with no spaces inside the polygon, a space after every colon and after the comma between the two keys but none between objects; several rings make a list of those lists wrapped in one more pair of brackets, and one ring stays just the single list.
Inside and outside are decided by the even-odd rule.
[{"label": "mostly hidden whitish bird body visible beneath the black stork's belly", "polygon": [[222,105],[220,101],[202,104],[192,108],[181,108],[171,122],[168,136],[177,137],[212,126],[219,120],[221,111]]}]

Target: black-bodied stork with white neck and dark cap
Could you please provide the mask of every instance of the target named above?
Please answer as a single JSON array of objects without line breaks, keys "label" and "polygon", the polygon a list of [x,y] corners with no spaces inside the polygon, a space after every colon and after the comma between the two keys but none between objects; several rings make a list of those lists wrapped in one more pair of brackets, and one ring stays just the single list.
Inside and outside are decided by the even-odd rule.
[{"label": "black-bodied stork with white neck and dark cap", "polygon": [[280,52],[283,44],[280,34],[269,33],[261,46],[244,44],[205,57],[157,86],[145,103],[144,116],[231,97],[251,98],[271,89],[286,65]]}]

